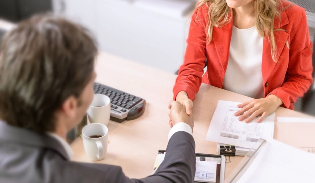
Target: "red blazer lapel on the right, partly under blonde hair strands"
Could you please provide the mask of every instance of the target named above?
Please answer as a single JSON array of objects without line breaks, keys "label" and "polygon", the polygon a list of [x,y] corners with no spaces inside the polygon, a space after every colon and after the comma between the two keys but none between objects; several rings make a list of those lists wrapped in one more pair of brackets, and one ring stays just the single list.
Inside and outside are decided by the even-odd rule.
[{"label": "red blazer lapel on the right, partly under blonde hair strands", "polygon": [[[275,18],[274,21],[274,27],[275,29],[282,28],[284,25],[289,24],[289,19],[285,11],[281,14],[281,20]],[[277,55],[276,58],[279,60],[280,55],[286,46],[286,41],[288,40],[289,34],[287,32],[279,30],[274,31],[274,37],[276,40],[276,46],[277,46]],[[261,72],[263,77],[263,82],[266,83],[268,78],[270,77],[270,74],[276,67],[277,63],[272,60],[271,57],[271,45],[268,41],[268,39],[264,39],[263,42],[263,51],[262,51],[262,63],[261,63]]]}]

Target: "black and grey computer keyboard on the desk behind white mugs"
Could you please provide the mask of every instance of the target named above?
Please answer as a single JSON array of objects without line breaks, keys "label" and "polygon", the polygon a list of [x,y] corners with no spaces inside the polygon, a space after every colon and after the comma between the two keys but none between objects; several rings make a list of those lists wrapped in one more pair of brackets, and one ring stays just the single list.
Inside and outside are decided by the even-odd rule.
[{"label": "black and grey computer keyboard on the desk behind white mugs", "polygon": [[111,99],[112,121],[123,122],[140,117],[146,106],[146,100],[101,83],[94,83],[95,94],[103,94]]}]

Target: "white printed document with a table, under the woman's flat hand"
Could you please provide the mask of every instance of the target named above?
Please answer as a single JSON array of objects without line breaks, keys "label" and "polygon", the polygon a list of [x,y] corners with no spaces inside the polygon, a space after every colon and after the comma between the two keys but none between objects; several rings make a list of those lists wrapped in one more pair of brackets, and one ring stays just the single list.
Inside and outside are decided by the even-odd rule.
[{"label": "white printed document with a table, under the woman's flat hand", "polygon": [[206,140],[252,148],[260,138],[273,138],[275,113],[257,123],[258,117],[249,123],[239,121],[235,112],[240,110],[238,102],[219,100],[215,109]]}]

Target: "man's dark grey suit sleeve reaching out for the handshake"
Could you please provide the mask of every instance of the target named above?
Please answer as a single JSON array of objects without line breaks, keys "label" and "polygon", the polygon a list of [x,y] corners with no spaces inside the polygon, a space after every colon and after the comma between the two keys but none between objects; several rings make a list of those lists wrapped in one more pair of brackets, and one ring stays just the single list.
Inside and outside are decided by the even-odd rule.
[{"label": "man's dark grey suit sleeve reaching out for the handshake", "polygon": [[157,171],[143,179],[129,179],[120,170],[115,182],[123,183],[191,183],[196,172],[195,141],[187,132],[176,132],[166,148],[166,155]]}]

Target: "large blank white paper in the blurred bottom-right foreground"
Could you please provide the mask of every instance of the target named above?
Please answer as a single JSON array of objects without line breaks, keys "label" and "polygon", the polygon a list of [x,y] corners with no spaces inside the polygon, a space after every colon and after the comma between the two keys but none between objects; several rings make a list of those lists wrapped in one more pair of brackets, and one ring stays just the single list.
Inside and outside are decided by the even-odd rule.
[{"label": "large blank white paper in the blurred bottom-right foreground", "polygon": [[269,139],[237,182],[314,182],[315,155]]}]

